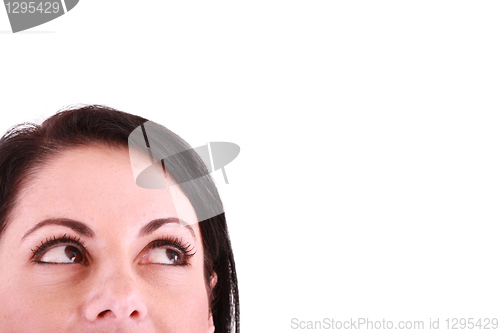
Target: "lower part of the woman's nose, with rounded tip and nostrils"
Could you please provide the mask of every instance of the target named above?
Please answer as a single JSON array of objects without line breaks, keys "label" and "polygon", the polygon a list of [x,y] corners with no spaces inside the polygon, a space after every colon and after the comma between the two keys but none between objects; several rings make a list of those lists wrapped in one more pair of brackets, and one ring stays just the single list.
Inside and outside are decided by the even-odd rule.
[{"label": "lower part of the woman's nose, with rounded tip and nostrils", "polygon": [[87,320],[131,322],[147,316],[146,304],[131,274],[114,272],[96,279],[94,286],[83,309]]}]

